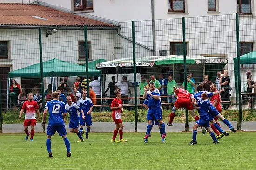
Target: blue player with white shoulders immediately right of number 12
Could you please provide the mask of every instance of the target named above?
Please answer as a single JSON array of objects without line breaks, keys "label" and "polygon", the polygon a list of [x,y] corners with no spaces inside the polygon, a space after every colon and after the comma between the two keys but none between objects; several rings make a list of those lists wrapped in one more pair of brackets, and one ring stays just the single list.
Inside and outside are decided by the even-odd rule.
[{"label": "blue player with white shoulders immediately right of number 12", "polygon": [[[70,96],[67,96],[66,109],[70,116],[70,121],[69,121],[70,132],[77,134],[77,136],[79,137],[79,141],[77,141],[77,142],[83,142],[82,134],[85,131],[84,130],[78,131],[79,117],[77,114],[77,111],[79,111],[80,114],[82,114],[82,119],[85,119],[83,110],[76,103],[72,102],[72,98]],[[65,119],[64,119],[64,121],[65,121]]]}]

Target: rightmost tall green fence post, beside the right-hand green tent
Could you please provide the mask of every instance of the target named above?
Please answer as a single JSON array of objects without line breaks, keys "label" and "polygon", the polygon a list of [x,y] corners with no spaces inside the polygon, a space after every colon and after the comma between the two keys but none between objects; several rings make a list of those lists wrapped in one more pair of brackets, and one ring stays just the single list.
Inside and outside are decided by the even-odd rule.
[{"label": "rightmost tall green fence post, beside the right-hand green tent", "polygon": [[239,39],[239,15],[236,13],[236,50],[237,50],[237,69],[238,69],[238,103],[239,103],[239,122],[238,130],[241,130],[242,104],[241,104],[241,75],[240,75],[240,39]]}]

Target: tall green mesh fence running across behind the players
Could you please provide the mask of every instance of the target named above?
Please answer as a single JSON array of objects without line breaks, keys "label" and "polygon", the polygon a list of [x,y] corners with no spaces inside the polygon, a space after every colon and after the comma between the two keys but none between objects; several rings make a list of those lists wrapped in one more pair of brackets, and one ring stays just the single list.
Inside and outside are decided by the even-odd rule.
[{"label": "tall green mesh fence running across behind the players", "polygon": [[[76,101],[73,87],[81,91],[82,85],[87,88],[87,83],[97,81],[100,87],[93,86],[95,94],[89,96],[94,102],[93,122],[113,121],[110,104],[115,97],[115,88],[122,90],[125,108],[122,120],[146,122],[147,110],[142,105],[142,87],[154,78],[159,80],[160,87],[157,88],[161,93],[163,120],[167,122],[176,100],[172,86],[184,88],[187,84],[191,94],[197,91],[198,84],[210,91],[210,82],[217,83],[216,88],[220,89],[217,77],[225,88],[221,94],[222,115],[230,121],[255,121],[253,83],[249,86],[246,76],[250,71],[252,77],[249,82],[254,80],[255,22],[254,17],[239,16],[239,25],[236,25],[235,14],[185,18],[183,23],[182,18],[136,21],[134,44],[132,22],[91,26],[86,30],[41,29],[40,36],[38,29],[0,29],[3,123],[23,121],[17,117],[30,92],[35,95],[35,100],[42,97],[38,103],[42,111],[53,91],[60,89],[61,93],[71,95]],[[238,33],[240,65],[237,63]],[[136,66],[133,63],[135,56]],[[222,75],[224,72],[225,75]],[[14,85],[13,79],[19,85]],[[87,82],[87,79],[90,80]],[[241,88],[238,88],[239,84]],[[180,109],[174,121],[194,121],[190,115],[186,120],[185,114],[185,110]]]}]

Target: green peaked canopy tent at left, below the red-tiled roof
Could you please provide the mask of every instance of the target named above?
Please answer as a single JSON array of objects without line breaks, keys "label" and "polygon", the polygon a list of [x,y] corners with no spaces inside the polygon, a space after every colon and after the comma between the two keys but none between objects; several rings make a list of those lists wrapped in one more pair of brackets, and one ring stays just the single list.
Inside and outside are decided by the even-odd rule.
[{"label": "green peaked canopy tent at left, below the red-tiled roof", "polygon": [[[89,76],[102,76],[100,70],[89,68]],[[55,77],[63,76],[85,76],[86,68],[82,65],[62,61],[59,59],[52,59],[43,62],[43,77],[51,77],[51,82],[53,84],[52,88],[55,89]],[[8,89],[7,89],[7,99],[9,94],[10,79],[13,77],[21,78],[36,78],[41,76],[40,63],[24,67],[22,69],[17,69],[15,71],[9,72],[8,75]],[[7,100],[8,108],[8,100]]]}]

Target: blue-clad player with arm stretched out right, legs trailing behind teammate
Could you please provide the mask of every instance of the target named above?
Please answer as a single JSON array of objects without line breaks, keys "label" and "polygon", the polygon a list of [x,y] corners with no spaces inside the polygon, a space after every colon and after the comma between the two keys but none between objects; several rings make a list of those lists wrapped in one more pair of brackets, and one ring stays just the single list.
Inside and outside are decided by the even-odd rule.
[{"label": "blue-clad player with arm stretched out right, legs trailing behind teammate", "polygon": [[[197,86],[197,91],[198,91],[198,92],[195,93],[195,94],[193,94],[193,96],[194,96],[194,98],[196,99],[197,102],[200,102],[200,101],[202,100],[202,99],[201,99],[201,94],[202,94],[202,93],[206,93],[206,94],[207,94],[207,97],[209,98],[209,97],[211,97],[211,96],[213,96],[213,95],[216,95],[216,94],[219,94],[219,93],[223,92],[223,91],[224,91],[224,88],[222,88],[222,89],[219,90],[219,91],[215,91],[215,92],[207,92],[207,91],[203,91],[203,86],[200,84],[200,85]],[[193,99],[192,99],[192,100],[193,100]],[[216,124],[216,121],[214,120],[215,117],[218,117],[219,119],[221,119],[222,122],[223,122],[225,125],[227,125],[227,126],[229,127],[229,129],[230,129],[233,133],[236,132],[236,130],[235,130],[234,127],[230,124],[230,122],[229,122],[226,118],[224,118],[224,117],[217,111],[217,109],[212,106],[211,103],[210,103],[210,111],[209,111],[209,114],[210,114],[210,121],[211,121],[211,123],[214,125],[214,127],[216,127],[216,129],[217,129],[219,132],[222,133],[222,129],[220,128],[220,126],[218,126],[218,125]],[[220,131],[220,130],[221,130],[221,131]],[[223,134],[225,134],[225,133],[223,133]],[[228,136],[228,135],[226,135],[226,136]]]}]

